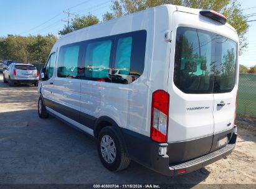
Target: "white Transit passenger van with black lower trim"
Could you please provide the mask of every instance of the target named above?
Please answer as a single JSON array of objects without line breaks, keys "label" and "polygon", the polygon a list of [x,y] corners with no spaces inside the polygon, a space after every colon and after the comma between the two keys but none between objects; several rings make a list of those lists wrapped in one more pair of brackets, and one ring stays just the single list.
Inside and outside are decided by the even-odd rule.
[{"label": "white Transit passenger van with black lower trim", "polygon": [[164,5],[64,35],[40,73],[40,118],[97,138],[112,171],[134,160],[181,175],[225,157],[237,136],[239,76],[239,39],[225,21]]}]

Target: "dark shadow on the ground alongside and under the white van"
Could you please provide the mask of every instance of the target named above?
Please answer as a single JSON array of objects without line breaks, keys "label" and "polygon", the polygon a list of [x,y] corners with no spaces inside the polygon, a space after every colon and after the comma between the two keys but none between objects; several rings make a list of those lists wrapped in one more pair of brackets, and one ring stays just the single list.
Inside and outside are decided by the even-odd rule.
[{"label": "dark shadow on the ground alongside and under the white van", "polygon": [[58,119],[39,119],[37,110],[0,113],[0,183],[154,183],[197,185],[205,168],[166,177],[131,162],[121,172],[100,163],[95,141]]}]

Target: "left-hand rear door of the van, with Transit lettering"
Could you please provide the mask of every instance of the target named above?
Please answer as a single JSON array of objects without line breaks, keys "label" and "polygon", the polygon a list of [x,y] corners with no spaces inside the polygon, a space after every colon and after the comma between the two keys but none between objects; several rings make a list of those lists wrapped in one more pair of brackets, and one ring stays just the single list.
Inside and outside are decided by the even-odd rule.
[{"label": "left-hand rear door of the van, with Transit lettering", "polygon": [[212,60],[216,27],[202,19],[197,14],[173,13],[168,142],[206,137],[197,148],[207,153],[214,132]]}]

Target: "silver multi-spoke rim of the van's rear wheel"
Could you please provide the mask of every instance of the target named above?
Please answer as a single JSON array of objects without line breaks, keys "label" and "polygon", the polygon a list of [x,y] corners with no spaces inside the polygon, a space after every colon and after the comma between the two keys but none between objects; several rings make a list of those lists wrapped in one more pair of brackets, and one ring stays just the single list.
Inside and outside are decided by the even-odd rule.
[{"label": "silver multi-spoke rim of the van's rear wheel", "polygon": [[102,137],[102,141],[100,141],[100,150],[103,159],[108,162],[108,164],[112,164],[115,161],[116,145],[110,136],[105,135]]}]

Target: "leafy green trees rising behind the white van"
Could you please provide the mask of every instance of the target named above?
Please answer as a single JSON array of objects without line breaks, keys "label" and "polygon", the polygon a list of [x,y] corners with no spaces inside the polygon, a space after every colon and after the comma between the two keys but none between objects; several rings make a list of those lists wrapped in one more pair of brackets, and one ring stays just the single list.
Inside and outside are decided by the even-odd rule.
[{"label": "leafy green trees rising behind the white van", "polygon": [[[247,17],[244,15],[237,0],[113,0],[110,11],[103,14],[102,22],[162,4],[176,4],[220,12],[227,17],[227,22],[237,30],[240,50],[244,50],[247,47],[245,34],[249,29],[249,24],[247,24]],[[64,25],[64,28],[59,30],[59,35],[65,35],[99,22],[100,19],[92,14],[76,16],[69,25]],[[0,60],[44,63],[56,40],[57,37],[52,34],[46,36],[30,35],[22,37],[20,35],[8,35],[7,37],[0,37]]]}]

